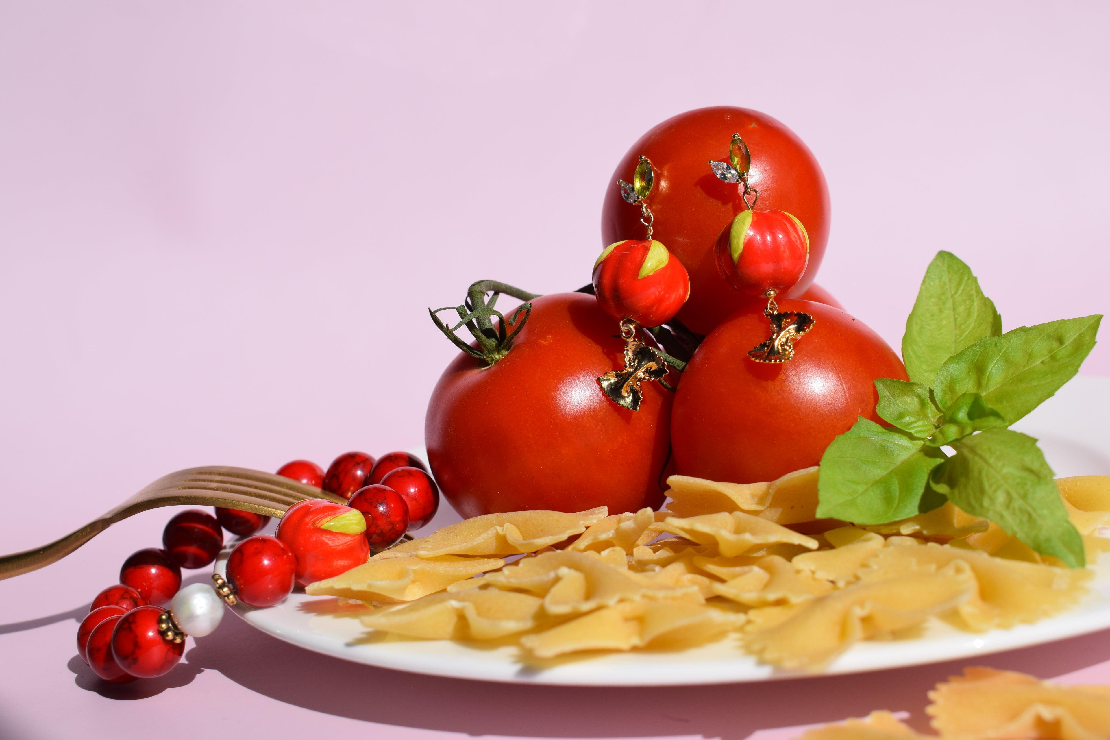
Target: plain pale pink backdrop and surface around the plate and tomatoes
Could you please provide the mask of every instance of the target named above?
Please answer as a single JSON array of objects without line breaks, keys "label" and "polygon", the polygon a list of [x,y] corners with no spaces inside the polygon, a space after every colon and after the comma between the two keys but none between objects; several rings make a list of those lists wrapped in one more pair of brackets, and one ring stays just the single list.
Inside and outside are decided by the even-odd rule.
[{"label": "plain pale pink backdrop and surface around the plate and tomatoes", "polygon": [[[612,168],[692,108],[754,108],[809,144],[834,205],[818,283],[895,346],[939,249],[1007,327],[1104,312],[1108,31],[1096,2],[0,1],[0,550],[170,470],[420,445],[454,354],[426,308],[484,277],[585,284]],[[1110,375],[1107,347],[1083,373]],[[0,582],[0,737],[743,740],[875,708],[919,722],[961,667],[500,687],[229,618],[165,678],[104,688],[75,619],[169,515]],[[1108,659],[1101,635],[990,665]]]}]

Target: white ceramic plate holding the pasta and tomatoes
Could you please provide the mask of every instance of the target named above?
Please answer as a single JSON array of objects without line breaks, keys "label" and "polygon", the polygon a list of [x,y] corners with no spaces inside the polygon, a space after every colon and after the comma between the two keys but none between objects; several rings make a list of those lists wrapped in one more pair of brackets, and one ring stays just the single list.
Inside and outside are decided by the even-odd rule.
[{"label": "white ceramic plate holding the pasta and tomatoes", "polygon": [[[1018,428],[1041,438],[1057,475],[1110,474],[1110,435],[1093,422],[1110,412],[1110,378],[1076,378]],[[1103,531],[1103,534],[1110,534]],[[222,574],[226,551],[215,564]],[[1097,566],[1094,588],[1076,608],[1036,625],[985,633],[958,631],[932,620],[912,639],[860,642],[825,673],[856,673],[972,658],[1110,628],[1110,556]],[[451,640],[398,640],[362,627],[354,612],[323,614],[335,599],[293,594],[270,609],[239,606],[250,625],[292,645],[344,660],[415,673],[519,683],[566,686],[676,686],[765,681],[803,676],[758,663],[735,637],[682,651],[602,653],[526,665],[517,648]]]}]

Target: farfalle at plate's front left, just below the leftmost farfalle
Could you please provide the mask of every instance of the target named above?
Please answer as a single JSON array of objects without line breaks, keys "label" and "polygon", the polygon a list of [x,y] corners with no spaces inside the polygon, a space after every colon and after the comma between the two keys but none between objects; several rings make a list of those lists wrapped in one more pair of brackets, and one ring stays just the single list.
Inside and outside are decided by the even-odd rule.
[{"label": "farfalle at plate's front left, just below the leftmost farfalle", "polygon": [[496,588],[432,594],[400,608],[362,617],[371,629],[428,640],[492,640],[529,630],[542,618],[543,599]]}]

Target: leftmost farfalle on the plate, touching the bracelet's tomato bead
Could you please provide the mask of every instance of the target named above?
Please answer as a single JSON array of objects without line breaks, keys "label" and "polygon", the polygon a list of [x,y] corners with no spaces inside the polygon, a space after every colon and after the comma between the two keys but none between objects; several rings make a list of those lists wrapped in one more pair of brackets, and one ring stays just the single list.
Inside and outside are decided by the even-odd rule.
[{"label": "leftmost farfalle on the plate, touching the bracelet's tomato bead", "polygon": [[334,578],[305,587],[312,596],[339,596],[360,601],[413,601],[452,584],[505,565],[501,558],[390,558],[370,560]]}]

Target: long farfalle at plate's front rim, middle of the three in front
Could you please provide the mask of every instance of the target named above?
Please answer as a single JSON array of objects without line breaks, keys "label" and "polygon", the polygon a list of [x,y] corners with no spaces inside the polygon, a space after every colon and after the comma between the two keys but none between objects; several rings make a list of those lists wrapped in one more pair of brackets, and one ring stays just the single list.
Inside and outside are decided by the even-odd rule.
[{"label": "long farfalle at plate's front rim, middle of the three in front", "polygon": [[687,647],[743,625],[743,614],[685,601],[622,601],[552,629],[521,638],[537,658],[584,650]]}]

